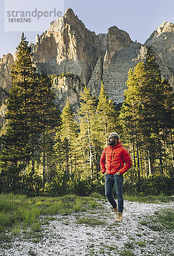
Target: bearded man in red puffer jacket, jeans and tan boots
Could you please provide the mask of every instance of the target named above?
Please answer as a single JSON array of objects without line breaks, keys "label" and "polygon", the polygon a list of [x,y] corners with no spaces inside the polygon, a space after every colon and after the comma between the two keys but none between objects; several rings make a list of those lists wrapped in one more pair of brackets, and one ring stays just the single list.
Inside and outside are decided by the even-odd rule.
[{"label": "bearded man in red puffer jacket, jeans and tan boots", "polygon": [[[100,158],[101,172],[105,175],[105,195],[112,205],[114,221],[122,221],[123,213],[123,173],[131,166],[132,160],[129,152],[122,147],[119,141],[120,136],[114,132],[109,135],[109,146],[104,149]],[[124,165],[125,163],[125,165]],[[112,196],[112,189],[115,185],[115,192],[118,198],[118,206]]]}]

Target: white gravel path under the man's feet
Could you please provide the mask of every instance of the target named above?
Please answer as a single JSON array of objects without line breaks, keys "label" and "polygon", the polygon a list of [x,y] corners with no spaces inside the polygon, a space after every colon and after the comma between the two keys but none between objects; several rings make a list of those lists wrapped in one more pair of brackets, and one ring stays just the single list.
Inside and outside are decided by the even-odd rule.
[{"label": "white gravel path under the man's feet", "polygon": [[[21,233],[12,240],[11,248],[1,249],[0,256],[115,256],[121,253],[124,256],[174,256],[172,231],[165,228],[154,231],[148,227],[152,225],[151,219],[157,216],[154,212],[171,209],[174,203],[124,201],[123,221],[115,223],[109,203],[106,200],[98,202],[102,207],[86,212],[54,215],[54,218],[43,216],[41,219],[46,218],[49,222],[36,236]],[[77,224],[77,218],[82,217],[98,218],[106,224],[94,227]],[[147,225],[140,221],[146,221]],[[140,244],[140,241],[145,243]]]}]

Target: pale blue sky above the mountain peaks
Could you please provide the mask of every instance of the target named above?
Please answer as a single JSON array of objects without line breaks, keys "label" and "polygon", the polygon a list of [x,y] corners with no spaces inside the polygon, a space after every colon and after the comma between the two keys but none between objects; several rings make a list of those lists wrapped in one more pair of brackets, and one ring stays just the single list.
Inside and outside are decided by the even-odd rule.
[{"label": "pale blue sky above the mountain peaks", "polygon": [[[8,7],[9,1],[0,0],[0,58],[8,52],[14,54],[22,33],[22,31],[5,31],[4,29],[4,6]],[[16,6],[19,5],[17,8],[20,10],[20,4],[17,3],[17,0],[11,1],[15,2]],[[25,3],[24,0],[19,1]],[[44,3],[45,0],[34,1],[43,1],[42,3]],[[57,8],[59,0],[51,1],[51,6],[47,4],[42,7],[45,10],[48,6]],[[31,3],[31,1],[27,3]],[[174,22],[173,0],[64,0],[64,11],[67,8],[73,9],[75,15],[82,20],[86,28],[96,34],[107,33],[109,27],[117,26],[126,31],[132,41],[137,40],[141,44],[164,20]],[[45,18],[45,28],[42,31],[24,31],[27,41],[35,43],[36,34],[41,35],[47,30],[50,21]]]}]

